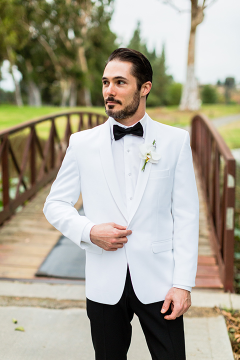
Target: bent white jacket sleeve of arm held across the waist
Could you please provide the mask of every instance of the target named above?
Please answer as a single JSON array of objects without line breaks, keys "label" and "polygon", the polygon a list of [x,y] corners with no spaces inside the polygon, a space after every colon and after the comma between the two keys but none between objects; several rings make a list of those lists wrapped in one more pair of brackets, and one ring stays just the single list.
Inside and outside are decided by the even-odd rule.
[{"label": "bent white jacket sleeve of arm held across the waist", "polygon": [[43,213],[46,219],[64,236],[78,246],[86,248],[93,244],[83,232],[85,227],[89,231],[94,223],[86,216],[79,215],[73,207],[78,200],[80,191],[80,174],[74,152],[73,135],[71,135],[61,167],[46,198]]}]

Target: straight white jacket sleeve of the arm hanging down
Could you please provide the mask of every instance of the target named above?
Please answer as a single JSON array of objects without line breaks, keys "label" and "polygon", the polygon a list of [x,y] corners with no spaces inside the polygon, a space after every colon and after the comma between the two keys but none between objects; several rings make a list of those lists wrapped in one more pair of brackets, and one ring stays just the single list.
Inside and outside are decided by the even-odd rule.
[{"label": "straight white jacket sleeve of the arm hanging down", "polygon": [[172,189],[175,287],[194,286],[197,267],[199,203],[189,134],[179,153]]}]

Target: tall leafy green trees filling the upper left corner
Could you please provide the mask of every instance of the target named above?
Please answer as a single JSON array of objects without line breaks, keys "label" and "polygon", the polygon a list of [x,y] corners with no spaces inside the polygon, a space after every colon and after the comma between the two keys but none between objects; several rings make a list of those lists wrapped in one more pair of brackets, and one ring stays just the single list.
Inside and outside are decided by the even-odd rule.
[{"label": "tall leafy green trees filling the upper left corner", "polygon": [[100,72],[117,47],[108,25],[112,4],[113,0],[0,1],[0,61],[17,64],[23,98],[29,99],[35,87],[44,103],[67,104],[72,93],[90,89],[93,103],[99,103]]}]

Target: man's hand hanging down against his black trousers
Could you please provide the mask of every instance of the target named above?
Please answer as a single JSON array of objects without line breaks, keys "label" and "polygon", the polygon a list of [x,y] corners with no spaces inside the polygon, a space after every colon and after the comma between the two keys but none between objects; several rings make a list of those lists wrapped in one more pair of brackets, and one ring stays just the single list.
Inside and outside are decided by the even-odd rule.
[{"label": "man's hand hanging down against his black trousers", "polygon": [[167,320],[174,320],[176,317],[182,315],[191,306],[190,291],[171,287],[166,294],[163,302],[161,313],[165,313],[171,305],[171,314],[164,316]]}]

